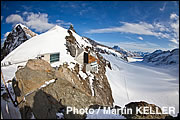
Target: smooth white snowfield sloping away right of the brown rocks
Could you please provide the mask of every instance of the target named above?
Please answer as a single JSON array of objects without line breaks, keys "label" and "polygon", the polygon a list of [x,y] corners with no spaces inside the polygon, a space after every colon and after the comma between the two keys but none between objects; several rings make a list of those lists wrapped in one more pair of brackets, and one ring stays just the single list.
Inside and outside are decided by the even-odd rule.
[{"label": "smooth white snowfield sloping away right of the brown rocks", "polygon": [[[111,62],[112,70],[107,67],[106,75],[114,104],[124,106],[129,102],[146,101],[160,107],[173,106],[176,114],[179,112],[177,76],[172,76],[160,68],[157,70],[145,65],[127,63],[113,55],[102,56]],[[179,74],[178,71],[176,74]]]}]

